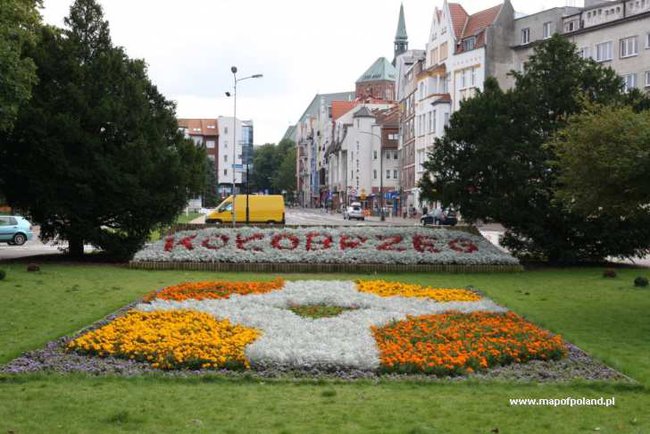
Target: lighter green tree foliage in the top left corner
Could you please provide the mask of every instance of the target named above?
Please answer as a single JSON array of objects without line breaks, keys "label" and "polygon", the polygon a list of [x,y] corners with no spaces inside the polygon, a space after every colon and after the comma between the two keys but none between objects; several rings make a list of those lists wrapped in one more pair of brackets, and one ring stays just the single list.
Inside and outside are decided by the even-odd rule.
[{"label": "lighter green tree foliage in the top left corner", "polygon": [[25,47],[36,40],[38,0],[0,2],[0,132],[9,130],[36,83],[36,66]]}]

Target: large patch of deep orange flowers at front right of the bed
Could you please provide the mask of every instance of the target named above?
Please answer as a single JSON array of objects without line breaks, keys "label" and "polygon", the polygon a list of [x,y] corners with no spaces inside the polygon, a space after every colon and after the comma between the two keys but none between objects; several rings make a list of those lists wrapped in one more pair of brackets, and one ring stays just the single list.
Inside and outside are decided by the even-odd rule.
[{"label": "large patch of deep orange flowers at front right of the bed", "polygon": [[372,331],[387,372],[458,375],[566,355],[559,336],[512,312],[409,317]]}]

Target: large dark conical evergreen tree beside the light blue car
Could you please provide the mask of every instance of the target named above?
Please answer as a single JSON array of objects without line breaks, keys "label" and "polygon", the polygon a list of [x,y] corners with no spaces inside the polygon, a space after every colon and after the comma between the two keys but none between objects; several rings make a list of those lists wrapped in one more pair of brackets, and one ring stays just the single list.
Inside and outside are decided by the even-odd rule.
[{"label": "large dark conical evergreen tree beside the light blue car", "polygon": [[39,83],[0,138],[4,191],[72,255],[90,243],[126,258],[201,192],[205,151],[179,133],[145,63],[112,45],[94,0],[65,22],[29,50]]}]

